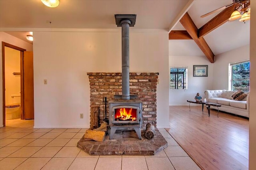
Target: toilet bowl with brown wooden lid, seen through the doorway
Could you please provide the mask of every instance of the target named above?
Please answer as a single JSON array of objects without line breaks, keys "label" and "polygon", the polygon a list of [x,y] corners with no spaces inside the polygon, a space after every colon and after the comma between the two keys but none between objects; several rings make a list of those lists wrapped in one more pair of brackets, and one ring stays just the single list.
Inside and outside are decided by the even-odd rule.
[{"label": "toilet bowl with brown wooden lid, seen through the doorway", "polygon": [[6,120],[20,118],[20,104],[10,104],[5,106]]}]

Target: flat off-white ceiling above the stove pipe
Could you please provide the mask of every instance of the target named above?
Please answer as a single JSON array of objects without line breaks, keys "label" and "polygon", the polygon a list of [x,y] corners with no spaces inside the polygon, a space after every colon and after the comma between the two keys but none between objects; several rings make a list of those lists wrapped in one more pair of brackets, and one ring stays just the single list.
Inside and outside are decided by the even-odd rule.
[{"label": "flat off-white ceiling above the stove pipe", "polygon": [[[5,28],[116,28],[114,14],[137,14],[137,29],[168,28],[189,0],[0,0]],[[49,24],[49,22],[52,22]]]}]

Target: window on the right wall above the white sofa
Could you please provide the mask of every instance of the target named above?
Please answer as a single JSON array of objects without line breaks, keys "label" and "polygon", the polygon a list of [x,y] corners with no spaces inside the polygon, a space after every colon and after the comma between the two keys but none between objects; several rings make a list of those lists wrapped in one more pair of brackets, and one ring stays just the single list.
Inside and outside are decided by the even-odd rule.
[{"label": "window on the right wall above the white sofa", "polygon": [[249,91],[250,87],[250,61],[231,63],[231,87],[232,90]]}]

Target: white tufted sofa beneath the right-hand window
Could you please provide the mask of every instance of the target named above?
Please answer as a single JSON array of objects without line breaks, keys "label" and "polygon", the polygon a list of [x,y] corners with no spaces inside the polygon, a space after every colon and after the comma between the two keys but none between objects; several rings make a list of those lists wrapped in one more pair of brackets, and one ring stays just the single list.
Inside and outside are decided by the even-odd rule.
[{"label": "white tufted sofa beneath the right-hand window", "polygon": [[[206,90],[204,93],[207,102],[218,103],[221,105],[221,107],[219,107],[220,111],[249,118],[249,93],[247,93],[247,97],[241,101],[236,101],[232,98],[232,95],[235,92],[236,91],[228,90]],[[214,106],[211,106],[210,108],[217,109],[217,107]]]}]

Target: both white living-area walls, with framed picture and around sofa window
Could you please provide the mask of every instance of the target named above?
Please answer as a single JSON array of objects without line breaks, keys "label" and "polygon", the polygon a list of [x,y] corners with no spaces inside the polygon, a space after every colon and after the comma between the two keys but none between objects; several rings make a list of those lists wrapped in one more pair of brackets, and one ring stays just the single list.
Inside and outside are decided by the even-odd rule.
[{"label": "both white living-area walls, with framed picture and around sofa window", "polygon": [[[204,99],[206,89],[228,90],[228,63],[249,59],[249,51],[250,45],[227,51],[216,55],[214,63],[202,56],[169,56],[169,67],[188,67],[188,89],[169,89],[169,105],[188,105],[197,92]],[[208,65],[208,77],[193,77],[193,65]]]}]

